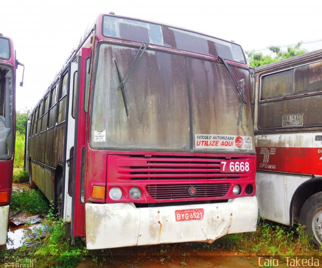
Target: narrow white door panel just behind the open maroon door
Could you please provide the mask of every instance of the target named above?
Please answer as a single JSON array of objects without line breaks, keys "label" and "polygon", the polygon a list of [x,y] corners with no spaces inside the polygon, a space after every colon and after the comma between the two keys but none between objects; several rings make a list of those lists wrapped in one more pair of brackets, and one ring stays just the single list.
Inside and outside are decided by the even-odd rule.
[{"label": "narrow white door panel just behind the open maroon door", "polygon": [[64,215],[66,223],[71,221],[71,205],[72,205],[72,167],[74,158],[74,133],[75,133],[75,114],[76,114],[76,96],[77,92],[77,71],[78,64],[69,62],[68,66],[68,108],[67,117],[68,124],[66,130],[66,161],[65,161],[65,180],[64,180]]}]

